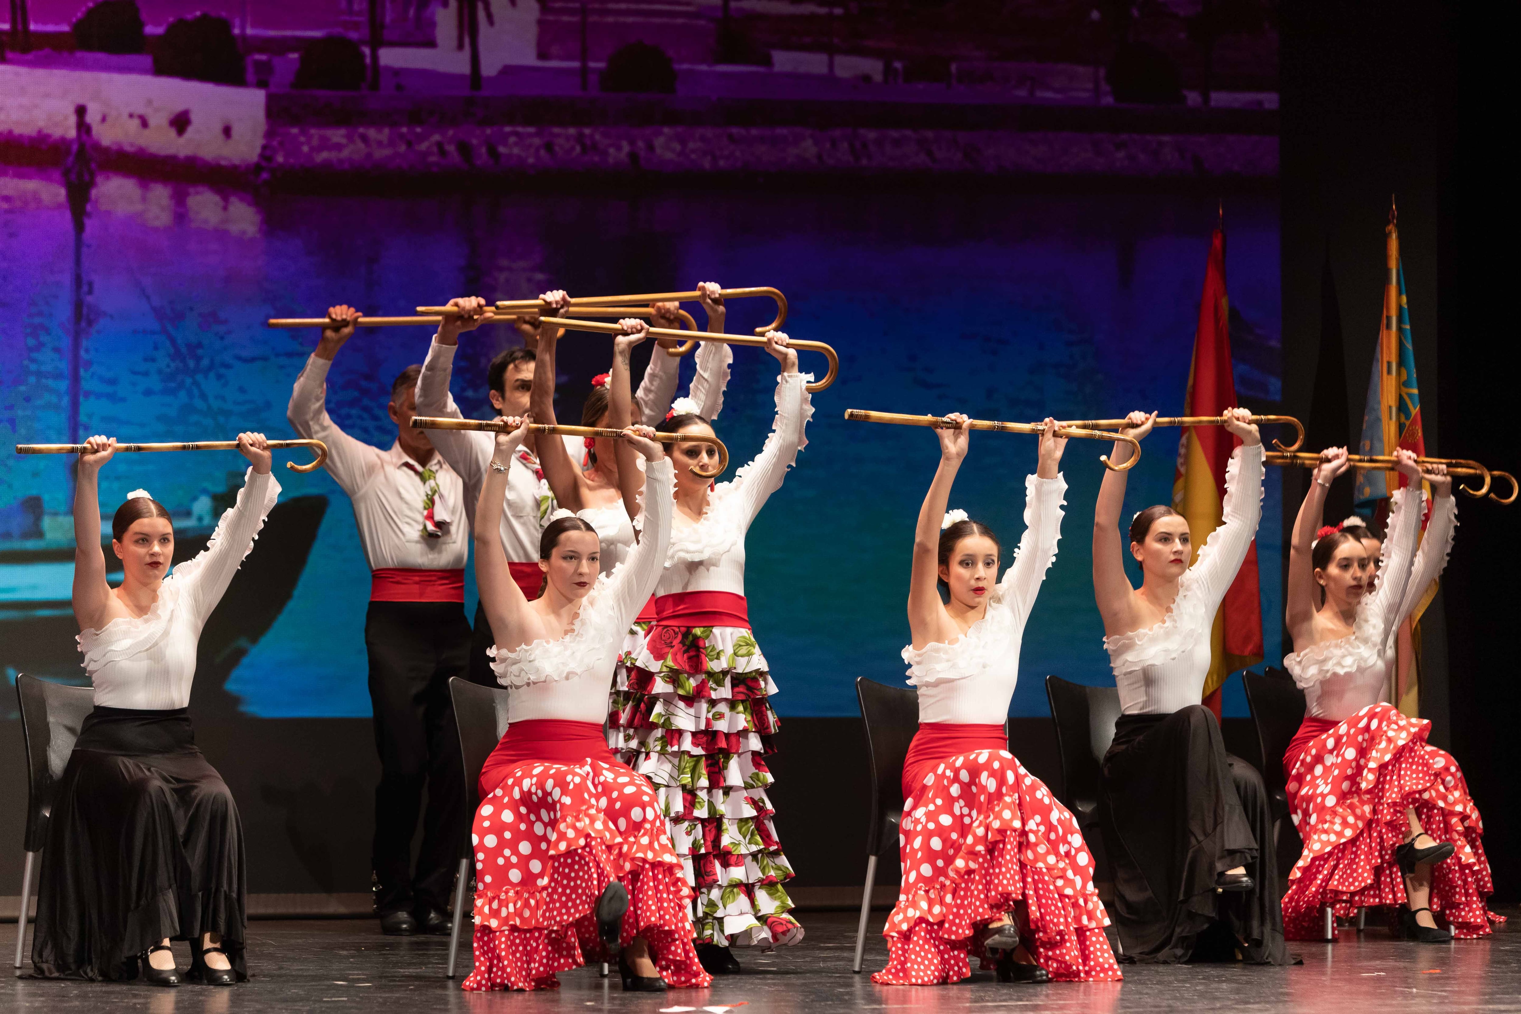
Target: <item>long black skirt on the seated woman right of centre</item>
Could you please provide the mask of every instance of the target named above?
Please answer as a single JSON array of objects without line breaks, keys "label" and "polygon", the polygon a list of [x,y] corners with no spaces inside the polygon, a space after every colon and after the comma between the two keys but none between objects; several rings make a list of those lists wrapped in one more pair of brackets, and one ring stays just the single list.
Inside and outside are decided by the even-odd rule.
[{"label": "long black skirt on the seated woman right of centre", "polygon": [[[1273,818],[1256,768],[1226,753],[1202,705],[1124,715],[1104,754],[1104,801],[1115,903],[1126,958],[1182,962],[1234,958],[1290,964]],[[1253,889],[1217,892],[1215,877],[1246,867]]]}]

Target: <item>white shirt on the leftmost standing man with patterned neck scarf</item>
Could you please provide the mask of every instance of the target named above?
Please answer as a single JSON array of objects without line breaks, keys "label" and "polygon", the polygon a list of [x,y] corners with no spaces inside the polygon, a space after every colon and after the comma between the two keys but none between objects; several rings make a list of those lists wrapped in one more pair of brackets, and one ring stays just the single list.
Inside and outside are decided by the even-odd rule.
[{"label": "white shirt on the leftmost standing man with patterned neck scarf", "polygon": [[[371,447],[341,430],[327,415],[327,371],[332,362],[312,356],[291,391],[286,417],[295,432],[327,444],[327,473],[348,494],[359,544],[371,570],[461,570],[470,555],[464,482],[437,452],[426,468],[438,482],[433,520],[441,535],[424,531],[421,468],[400,444]],[[429,436],[435,436],[430,432]]]}]

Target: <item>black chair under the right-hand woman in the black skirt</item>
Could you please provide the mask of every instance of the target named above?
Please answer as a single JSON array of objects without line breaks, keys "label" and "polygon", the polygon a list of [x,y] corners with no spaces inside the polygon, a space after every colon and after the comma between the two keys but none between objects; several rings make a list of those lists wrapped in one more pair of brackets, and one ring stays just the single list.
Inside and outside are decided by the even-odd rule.
[{"label": "black chair under the right-hand woman in the black skirt", "polygon": [[1046,677],[1046,701],[1062,756],[1062,806],[1072,812],[1094,856],[1094,880],[1112,882],[1109,807],[1104,804],[1103,763],[1115,742],[1119,721],[1119,690],[1089,687],[1060,677]]}]

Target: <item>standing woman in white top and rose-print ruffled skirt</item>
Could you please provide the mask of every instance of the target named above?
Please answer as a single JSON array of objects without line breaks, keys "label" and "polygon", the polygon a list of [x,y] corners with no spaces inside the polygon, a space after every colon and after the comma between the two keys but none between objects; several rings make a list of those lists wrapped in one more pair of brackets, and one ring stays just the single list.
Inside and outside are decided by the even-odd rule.
[{"label": "standing woman in white top and rose-print ruffled skirt", "polygon": [[[767,334],[780,363],[776,424],[765,448],[730,482],[712,486],[712,444],[674,445],[675,523],[656,622],[625,655],[625,683],[613,695],[608,737],[630,768],[649,778],[671,821],[671,838],[697,888],[692,921],[709,971],[738,971],[730,944],[795,944],[803,927],[782,883],[792,870],[771,825],[776,693],[745,611],[745,531],[806,444],[814,414],[786,334]],[[666,433],[712,433],[709,420],[681,412]],[[648,500],[646,500],[648,503]],[[648,508],[646,508],[648,509]]]}]

